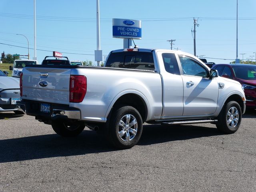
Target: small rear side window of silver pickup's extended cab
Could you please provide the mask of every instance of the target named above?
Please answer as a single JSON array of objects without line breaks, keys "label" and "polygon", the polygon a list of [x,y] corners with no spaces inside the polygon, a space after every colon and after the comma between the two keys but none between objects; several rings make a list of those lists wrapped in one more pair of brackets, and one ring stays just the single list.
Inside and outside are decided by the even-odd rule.
[{"label": "small rear side window of silver pickup's extended cab", "polygon": [[178,62],[174,53],[163,53],[164,68],[168,73],[180,75]]}]

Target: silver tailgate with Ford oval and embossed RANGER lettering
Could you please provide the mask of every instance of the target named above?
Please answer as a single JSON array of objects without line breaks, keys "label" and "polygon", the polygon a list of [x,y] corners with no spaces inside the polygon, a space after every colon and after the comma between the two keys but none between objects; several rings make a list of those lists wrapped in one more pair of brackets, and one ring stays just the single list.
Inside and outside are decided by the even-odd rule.
[{"label": "silver tailgate with Ford oval and embossed RANGER lettering", "polygon": [[70,68],[23,69],[22,98],[58,104],[69,104]]}]

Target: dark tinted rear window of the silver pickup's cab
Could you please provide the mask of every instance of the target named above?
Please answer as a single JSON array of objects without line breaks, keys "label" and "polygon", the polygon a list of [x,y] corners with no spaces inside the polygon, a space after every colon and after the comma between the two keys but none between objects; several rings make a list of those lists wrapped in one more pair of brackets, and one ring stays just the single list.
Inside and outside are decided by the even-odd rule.
[{"label": "dark tinted rear window of the silver pickup's cab", "polygon": [[154,70],[154,59],[151,52],[117,52],[111,53],[106,67]]}]

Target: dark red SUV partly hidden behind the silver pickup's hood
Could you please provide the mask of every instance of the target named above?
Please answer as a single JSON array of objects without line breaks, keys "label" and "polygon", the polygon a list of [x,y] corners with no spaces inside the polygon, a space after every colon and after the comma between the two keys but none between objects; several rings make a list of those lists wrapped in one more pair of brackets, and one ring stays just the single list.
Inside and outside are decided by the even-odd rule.
[{"label": "dark red SUV partly hidden behind the silver pickup's hood", "polygon": [[256,108],[256,65],[216,64],[212,69],[218,70],[219,76],[240,82],[246,96],[246,108]]}]

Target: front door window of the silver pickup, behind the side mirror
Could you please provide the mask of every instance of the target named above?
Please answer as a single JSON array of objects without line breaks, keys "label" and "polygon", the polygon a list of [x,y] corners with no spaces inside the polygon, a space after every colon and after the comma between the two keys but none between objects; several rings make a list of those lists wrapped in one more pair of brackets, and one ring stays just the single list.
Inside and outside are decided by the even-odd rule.
[{"label": "front door window of the silver pickup, behind the side mirror", "polygon": [[207,69],[190,57],[179,55],[184,75],[207,77]]}]

